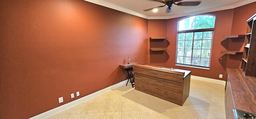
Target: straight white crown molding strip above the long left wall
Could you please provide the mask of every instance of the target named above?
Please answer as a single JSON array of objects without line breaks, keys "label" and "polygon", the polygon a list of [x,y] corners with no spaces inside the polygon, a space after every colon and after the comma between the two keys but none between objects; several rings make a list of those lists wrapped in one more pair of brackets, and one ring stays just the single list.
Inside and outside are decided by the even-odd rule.
[{"label": "straight white crown molding strip above the long left wall", "polygon": [[145,18],[145,19],[149,18],[149,16],[146,16],[144,14],[140,14],[138,12],[134,12],[132,10],[122,8],[120,6],[105,2],[103,0],[84,0],[84,1],[91,2],[91,3],[94,3],[94,4],[98,4],[98,5],[101,5],[101,6],[104,6],[104,7],[107,7],[107,8],[111,8],[111,9],[114,9],[114,10],[118,10],[118,11],[121,11],[121,12],[124,12],[124,13],[132,14],[134,16],[138,16],[138,17],[141,17],[141,18]]}]

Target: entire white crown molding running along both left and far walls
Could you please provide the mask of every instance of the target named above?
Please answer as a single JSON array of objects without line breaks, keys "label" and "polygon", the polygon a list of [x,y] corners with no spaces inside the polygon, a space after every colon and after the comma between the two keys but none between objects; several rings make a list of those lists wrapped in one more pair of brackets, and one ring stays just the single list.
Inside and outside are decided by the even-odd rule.
[{"label": "entire white crown molding running along both left and far walls", "polygon": [[199,11],[195,11],[195,12],[187,12],[187,13],[184,13],[184,14],[178,14],[178,15],[172,15],[172,16],[146,16],[144,14],[140,14],[138,12],[134,12],[132,10],[122,8],[120,6],[105,2],[103,0],[84,0],[84,1],[91,2],[91,3],[94,3],[94,4],[98,4],[98,5],[101,5],[101,6],[105,6],[107,8],[111,8],[111,9],[118,10],[118,11],[121,11],[121,12],[125,12],[127,14],[132,14],[134,16],[138,16],[138,17],[145,18],[145,19],[148,19],[148,20],[152,20],[152,19],[172,19],[172,18],[178,18],[178,17],[183,17],[183,16],[202,14],[202,13],[207,13],[207,12],[228,10],[228,9],[237,8],[237,7],[246,5],[246,4],[250,4],[252,2],[256,2],[256,0],[244,0],[242,2],[238,2],[236,4],[232,4],[232,5],[228,5],[228,6],[221,6],[221,7],[218,7],[218,8],[210,8],[210,9],[199,10]]}]

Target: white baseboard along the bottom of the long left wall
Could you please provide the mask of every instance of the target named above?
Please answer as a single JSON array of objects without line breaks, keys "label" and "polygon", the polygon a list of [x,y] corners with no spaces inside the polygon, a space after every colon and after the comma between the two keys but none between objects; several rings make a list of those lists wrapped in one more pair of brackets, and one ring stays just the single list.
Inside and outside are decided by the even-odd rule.
[{"label": "white baseboard along the bottom of the long left wall", "polygon": [[54,109],[51,109],[51,110],[49,110],[49,111],[46,111],[46,112],[41,113],[41,114],[39,114],[39,115],[36,115],[36,116],[34,116],[34,117],[31,117],[31,118],[29,118],[29,119],[43,119],[43,118],[49,117],[49,116],[54,115],[54,114],[56,114],[56,113],[58,113],[58,112],[60,112],[60,111],[63,111],[63,110],[68,109],[68,108],[70,108],[70,107],[73,107],[74,105],[77,105],[77,104],[79,104],[79,103],[82,103],[82,102],[84,102],[84,101],[86,101],[86,100],[88,100],[88,99],[91,99],[91,98],[94,98],[94,97],[96,97],[96,96],[98,96],[98,95],[100,95],[100,94],[103,94],[104,92],[107,92],[107,91],[109,91],[109,90],[112,90],[112,89],[114,89],[114,88],[117,88],[117,87],[119,87],[119,86],[122,86],[122,85],[124,85],[124,84],[126,83],[126,81],[127,81],[127,80],[124,80],[124,81],[122,81],[122,82],[120,82],[120,83],[118,83],[118,84],[114,84],[114,85],[112,85],[112,86],[109,86],[109,87],[107,87],[107,88],[104,88],[104,89],[102,89],[102,90],[99,90],[99,91],[97,91],[97,92],[95,92],[95,93],[93,93],[93,94],[90,94],[90,95],[88,95],[88,96],[84,96],[83,98],[76,99],[76,100],[74,100],[74,101],[72,101],[72,102],[70,102],[70,103],[66,103],[66,104],[64,104],[64,105],[61,105],[60,107],[56,107],[56,108],[54,108]]}]

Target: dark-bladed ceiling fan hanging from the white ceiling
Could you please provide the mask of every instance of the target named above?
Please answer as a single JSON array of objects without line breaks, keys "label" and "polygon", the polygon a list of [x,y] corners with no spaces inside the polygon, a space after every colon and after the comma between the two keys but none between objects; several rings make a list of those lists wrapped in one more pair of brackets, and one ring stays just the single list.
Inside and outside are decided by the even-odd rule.
[{"label": "dark-bladed ceiling fan hanging from the white ceiling", "polygon": [[[164,5],[163,6],[158,6],[158,7],[155,7],[155,8],[162,8],[164,6],[168,6],[168,8],[166,9],[166,13],[170,13],[172,12],[172,5],[175,4],[177,6],[198,6],[201,1],[191,1],[191,2],[180,2],[182,0],[150,0],[150,1],[155,1],[155,2],[161,2],[163,3]],[[178,2],[178,3],[176,3]],[[153,10],[154,8],[150,8],[150,9],[146,9],[146,10],[143,10],[143,11],[149,11],[149,10]]]}]

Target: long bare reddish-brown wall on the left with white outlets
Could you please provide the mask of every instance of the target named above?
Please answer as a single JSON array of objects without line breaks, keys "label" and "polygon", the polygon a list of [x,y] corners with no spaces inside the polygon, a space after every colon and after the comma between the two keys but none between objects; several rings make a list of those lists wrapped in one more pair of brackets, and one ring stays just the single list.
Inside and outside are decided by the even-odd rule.
[{"label": "long bare reddish-brown wall on the left with white outlets", "polygon": [[119,83],[128,56],[147,62],[146,19],[84,0],[2,0],[0,9],[0,119],[33,117]]}]

